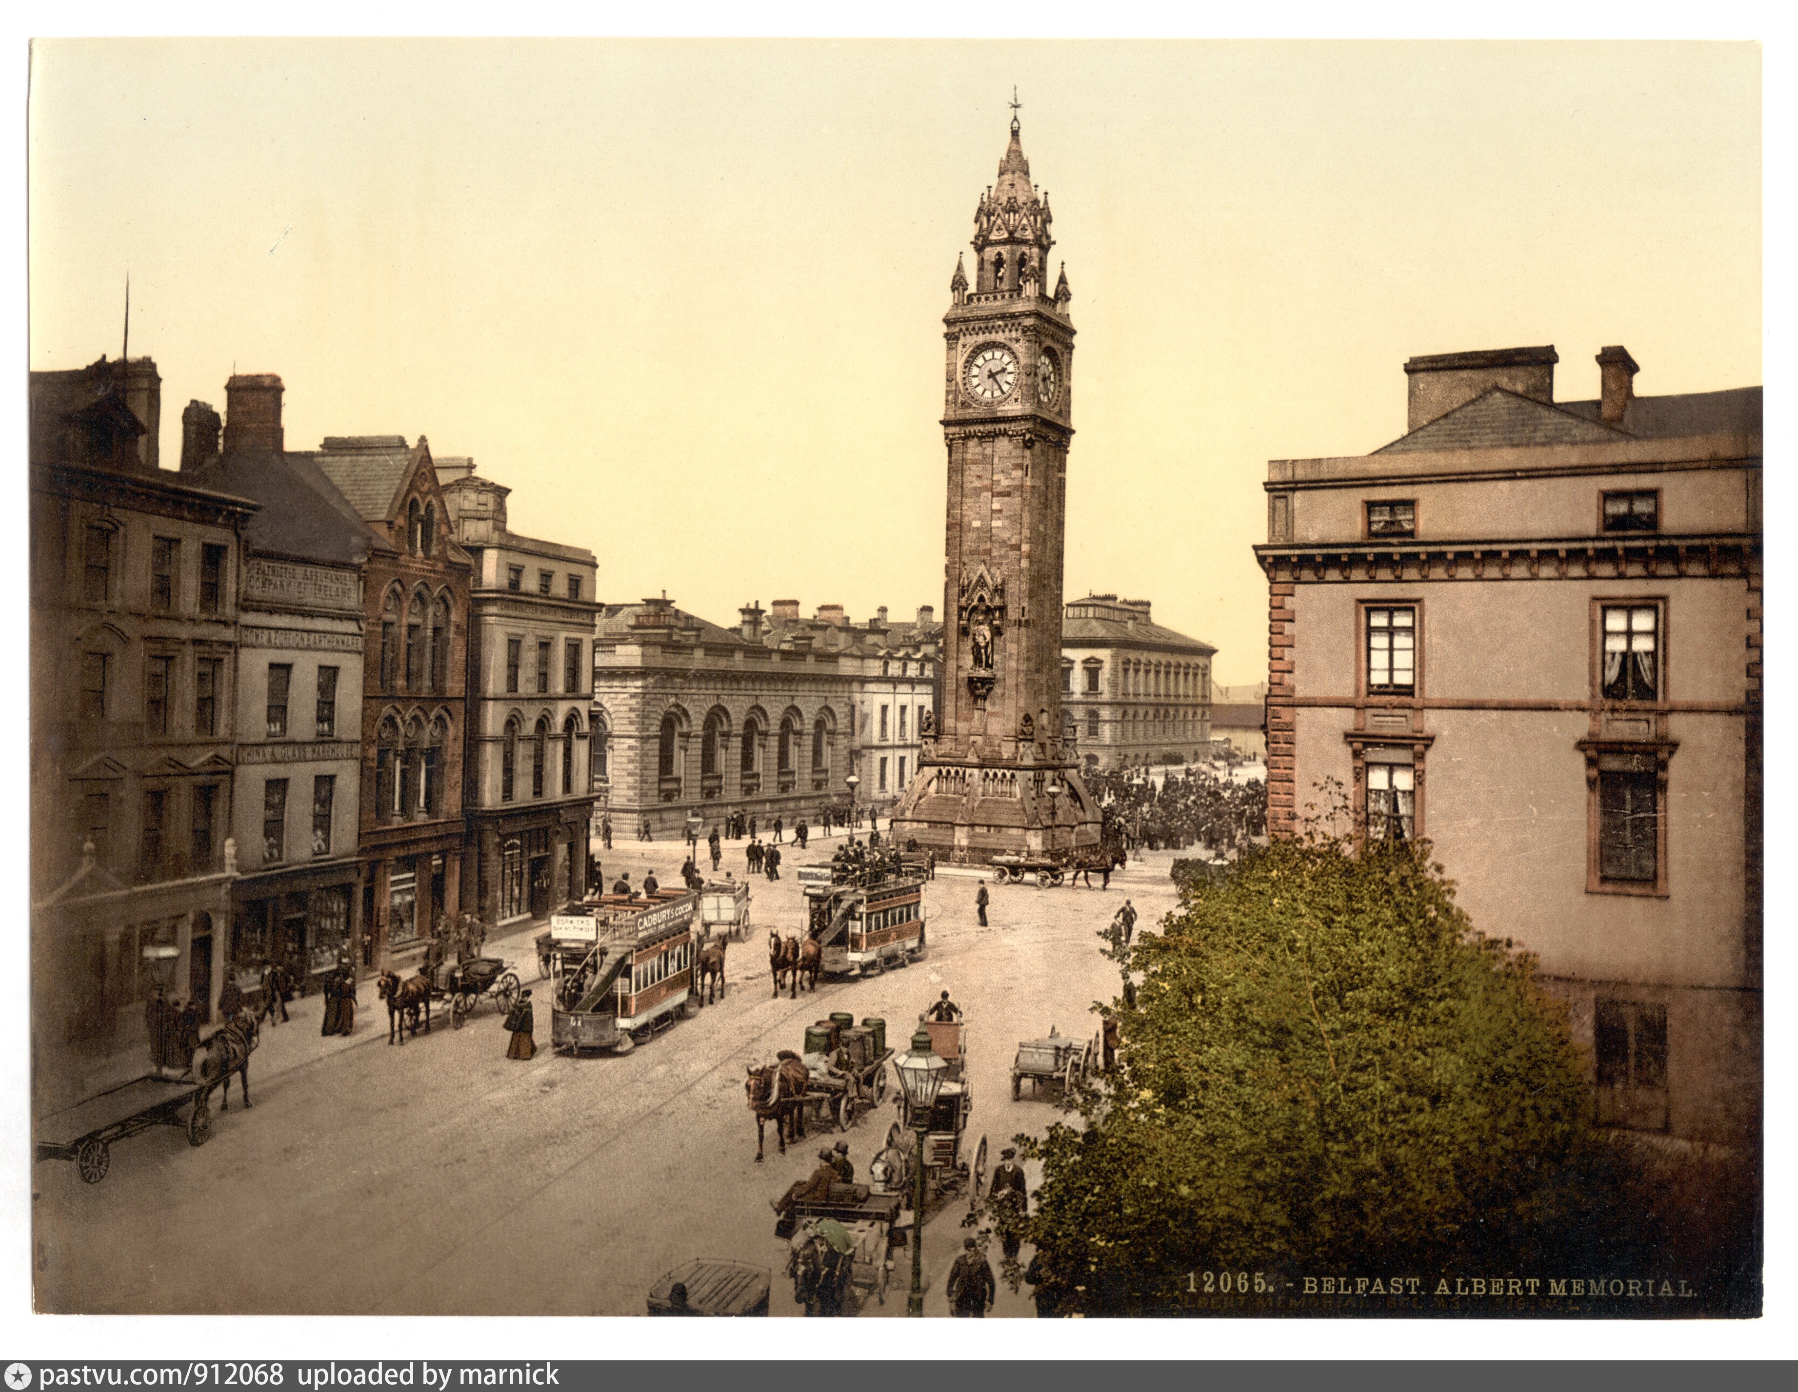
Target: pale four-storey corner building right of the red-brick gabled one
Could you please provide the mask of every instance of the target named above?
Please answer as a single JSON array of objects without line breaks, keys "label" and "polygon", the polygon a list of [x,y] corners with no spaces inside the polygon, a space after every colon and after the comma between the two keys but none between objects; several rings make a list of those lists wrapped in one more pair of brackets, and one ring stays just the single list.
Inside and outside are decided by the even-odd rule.
[{"label": "pale four-storey corner building right of the red-brick gabled one", "polygon": [[473,562],[462,905],[509,923],[586,893],[599,562],[507,530],[511,489],[473,460],[439,458],[437,478]]}]

